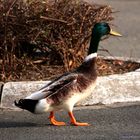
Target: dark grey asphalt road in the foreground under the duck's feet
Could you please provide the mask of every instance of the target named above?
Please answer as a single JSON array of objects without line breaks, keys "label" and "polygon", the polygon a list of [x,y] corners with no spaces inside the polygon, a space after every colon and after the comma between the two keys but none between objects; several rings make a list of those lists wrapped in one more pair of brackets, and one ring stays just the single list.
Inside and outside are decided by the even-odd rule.
[{"label": "dark grey asphalt road in the foreground under the duck's feet", "polygon": [[88,107],[74,111],[91,126],[69,125],[66,112],[57,112],[67,126],[52,126],[48,114],[0,111],[0,140],[140,140],[140,105],[117,108]]}]

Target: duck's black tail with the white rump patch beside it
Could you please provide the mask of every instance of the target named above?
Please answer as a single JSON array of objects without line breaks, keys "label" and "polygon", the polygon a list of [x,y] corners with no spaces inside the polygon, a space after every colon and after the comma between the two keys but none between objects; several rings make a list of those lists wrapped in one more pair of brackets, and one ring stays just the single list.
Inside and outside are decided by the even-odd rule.
[{"label": "duck's black tail with the white rump patch beside it", "polygon": [[18,102],[15,101],[15,106],[28,110],[32,113],[43,113],[46,111],[48,104],[45,99],[32,100],[32,99],[20,99]]}]

